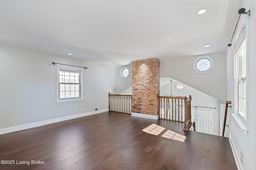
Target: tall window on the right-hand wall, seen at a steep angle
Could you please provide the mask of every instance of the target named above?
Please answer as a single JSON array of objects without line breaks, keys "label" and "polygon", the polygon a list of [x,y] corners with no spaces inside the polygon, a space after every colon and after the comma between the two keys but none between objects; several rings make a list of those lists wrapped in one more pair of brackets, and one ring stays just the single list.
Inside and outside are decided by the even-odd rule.
[{"label": "tall window on the right-hand wall, seen at a steep angle", "polygon": [[235,50],[235,89],[237,112],[246,119],[246,31],[241,31]]}]

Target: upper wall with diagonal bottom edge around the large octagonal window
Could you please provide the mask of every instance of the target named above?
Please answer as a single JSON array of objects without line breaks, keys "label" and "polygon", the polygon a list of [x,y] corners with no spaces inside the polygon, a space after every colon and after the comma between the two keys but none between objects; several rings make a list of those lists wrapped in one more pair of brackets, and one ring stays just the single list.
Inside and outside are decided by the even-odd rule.
[{"label": "upper wall with diagonal bottom edge around the large octagonal window", "polygon": [[226,53],[208,54],[214,59],[214,68],[207,74],[198,74],[193,62],[198,56],[161,61],[160,77],[172,77],[222,102],[226,101]]}]

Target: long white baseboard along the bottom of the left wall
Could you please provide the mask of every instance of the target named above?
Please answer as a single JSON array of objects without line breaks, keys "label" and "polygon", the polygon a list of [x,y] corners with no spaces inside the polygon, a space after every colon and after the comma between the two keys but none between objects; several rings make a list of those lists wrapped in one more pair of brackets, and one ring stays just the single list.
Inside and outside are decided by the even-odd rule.
[{"label": "long white baseboard along the bottom of the left wall", "polygon": [[66,117],[59,117],[59,118],[56,118],[56,119],[38,121],[38,122],[28,123],[28,124],[24,124],[24,125],[6,127],[6,128],[3,128],[3,129],[0,129],[0,135],[5,134],[5,133],[15,132],[15,131],[21,131],[21,130],[25,130],[25,129],[30,129],[30,128],[33,128],[33,127],[48,125],[48,124],[51,124],[51,123],[57,123],[57,122],[60,122],[60,121],[75,119],[75,118],[78,118],[78,117],[94,115],[94,114],[102,113],[102,112],[105,112],[105,111],[108,111],[108,109],[102,109],[102,110],[98,110],[98,111],[91,111],[91,112],[87,112],[87,113],[80,113],[80,114],[76,114],[76,115],[70,115],[70,116],[66,116]]}]

